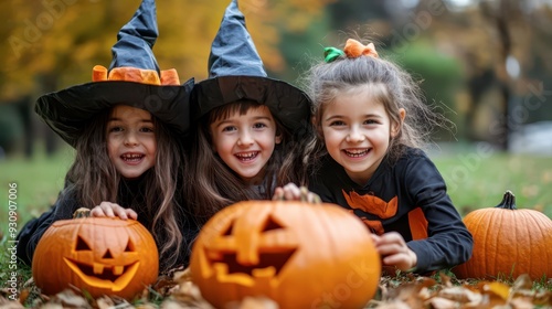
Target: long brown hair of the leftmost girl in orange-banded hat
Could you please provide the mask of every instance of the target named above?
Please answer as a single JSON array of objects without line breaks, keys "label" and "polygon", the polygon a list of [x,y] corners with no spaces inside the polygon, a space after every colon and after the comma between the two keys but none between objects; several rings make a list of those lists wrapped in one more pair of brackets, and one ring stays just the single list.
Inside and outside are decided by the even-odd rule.
[{"label": "long brown hair of the leftmost girl in orange-banded hat", "polygon": [[[76,157],[67,179],[82,206],[94,207],[103,201],[117,202],[147,217],[146,226],[156,238],[160,253],[161,270],[176,266],[184,236],[179,226],[184,220],[184,205],[180,195],[185,160],[179,137],[156,117],[157,139],[155,166],[142,174],[138,192],[140,198],[126,199],[125,180],[121,179],[107,154],[106,125],[110,110],[102,113],[88,124],[76,145]],[[124,200],[126,199],[126,200]],[[140,220],[140,215],[138,217]],[[140,220],[140,222],[144,222]]]}]

